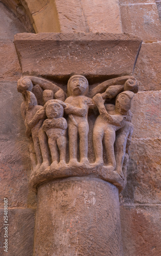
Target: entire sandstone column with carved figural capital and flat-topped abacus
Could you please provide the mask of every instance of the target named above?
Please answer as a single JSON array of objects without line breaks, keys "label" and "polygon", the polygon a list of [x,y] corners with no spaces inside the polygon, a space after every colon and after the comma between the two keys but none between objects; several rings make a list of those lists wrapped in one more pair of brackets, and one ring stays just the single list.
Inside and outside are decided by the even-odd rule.
[{"label": "entire sandstone column with carved figural capital and flat-topped abacus", "polygon": [[119,192],[140,43],[125,34],[15,36],[28,75],[17,89],[38,193],[34,256],[123,255]]}]

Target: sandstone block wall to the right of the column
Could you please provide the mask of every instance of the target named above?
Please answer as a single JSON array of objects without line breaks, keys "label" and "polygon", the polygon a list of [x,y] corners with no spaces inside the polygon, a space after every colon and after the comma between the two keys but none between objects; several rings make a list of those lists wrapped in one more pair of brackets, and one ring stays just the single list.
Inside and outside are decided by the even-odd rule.
[{"label": "sandstone block wall to the right of the column", "polygon": [[154,0],[120,0],[120,11],[123,32],[143,39],[134,73],[140,91],[133,98],[135,129],[122,193],[124,255],[160,255],[161,24]]}]

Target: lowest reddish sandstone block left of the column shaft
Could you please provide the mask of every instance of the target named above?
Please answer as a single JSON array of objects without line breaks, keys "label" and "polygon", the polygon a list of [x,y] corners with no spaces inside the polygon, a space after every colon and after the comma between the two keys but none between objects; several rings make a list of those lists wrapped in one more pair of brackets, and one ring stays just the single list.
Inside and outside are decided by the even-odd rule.
[{"label": "lowest reddish sandstone block left of the column shaft", "polygon": [[[10,200],[10,199],[9,199]],[[4,251],[4,209],[0,209],[1,216],[1,248],[2,256],[32,256],[34,244],[35,209],[8,210],[8,252]]]}]

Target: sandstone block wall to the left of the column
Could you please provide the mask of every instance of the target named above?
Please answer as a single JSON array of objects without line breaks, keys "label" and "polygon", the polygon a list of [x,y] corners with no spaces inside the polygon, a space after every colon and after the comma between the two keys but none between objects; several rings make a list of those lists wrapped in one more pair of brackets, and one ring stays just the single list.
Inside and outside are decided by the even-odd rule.
[{"label": "sandstone block wall to the left of the column", "polygon": [[[21,69],[14,47],[16,33],[26,32],[17,17],[0,3],[0,102],[1,102],[1,193],[0,254],[32,255],[36,196],[28,186],[30,158],[28,140],[19,106],[17,79]],[[18,111],[17,111],[18,110]],[[8,198],[9,251],[4,252],[4,197]]]}]

